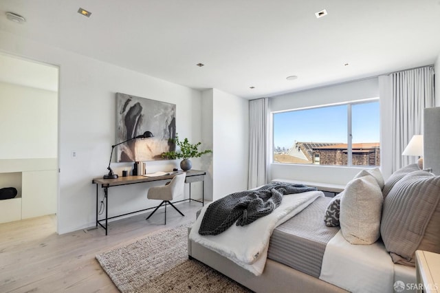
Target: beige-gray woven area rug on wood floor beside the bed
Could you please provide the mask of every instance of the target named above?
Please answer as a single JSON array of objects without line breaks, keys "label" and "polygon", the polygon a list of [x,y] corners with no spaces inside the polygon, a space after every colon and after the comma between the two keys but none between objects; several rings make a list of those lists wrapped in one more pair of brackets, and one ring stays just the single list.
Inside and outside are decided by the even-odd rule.
[{"label": "beige-gray woven area rug on wood floor beside the bed", "polygon": [[96,256],[122,293],[252,292],[196,260],[188,259],[188,227],[162,230]]}]

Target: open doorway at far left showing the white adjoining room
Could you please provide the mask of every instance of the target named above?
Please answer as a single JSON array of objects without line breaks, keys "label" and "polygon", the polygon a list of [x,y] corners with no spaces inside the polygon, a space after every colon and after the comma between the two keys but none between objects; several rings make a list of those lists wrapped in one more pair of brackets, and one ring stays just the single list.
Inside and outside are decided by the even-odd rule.
[{"label": "open doorway at far left showing the white adjoining room", "polygon": [[58,211],[58,71],[0,53],[0,223]]}]

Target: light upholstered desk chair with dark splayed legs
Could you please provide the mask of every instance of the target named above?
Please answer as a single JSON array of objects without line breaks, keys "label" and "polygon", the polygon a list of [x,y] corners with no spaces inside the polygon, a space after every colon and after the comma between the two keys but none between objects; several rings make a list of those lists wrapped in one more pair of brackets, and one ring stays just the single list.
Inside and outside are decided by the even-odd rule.
[{"label": "light upholstered desk chair with dark splayed legs", "polygon": [[185,188],[185,177],[186,174],[179,174],[175,175],[173,177],[173,180],[168,182],[164,186],[157,186],[157,187],[151,187],[148,189],[148,194],[146,197],[148,199],[160,199],[162,202],[153,210],[153,213],[151,213],[147,218],[150,219],[150,217],[156,212],[157,208],[162,206],[162,204],[165,204],[165,225],[166,225],[166,204],[170,204],[179,212],[180,215],[184,216],[184,214],[181,213],[180,210],[178,210],[173,204],[171,204],[170,200],[173,200],[174,197],[178,197],[179,195],[182,195],[184,193]]}]

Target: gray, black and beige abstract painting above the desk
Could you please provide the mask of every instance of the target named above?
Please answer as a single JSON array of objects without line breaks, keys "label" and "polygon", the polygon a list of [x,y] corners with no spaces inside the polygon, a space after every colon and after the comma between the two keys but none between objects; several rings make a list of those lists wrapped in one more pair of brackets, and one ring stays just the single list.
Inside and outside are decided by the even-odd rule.
[{"label": "gray, black and beige abstract painting above the desk", "polygon": [[145,131],[153,138],[131,140],[117,147],[118,162],[163,160],[161,155],[174,151],[169,141],[176,135],[176,105],[148,98],[116,93],[116,143]]}]

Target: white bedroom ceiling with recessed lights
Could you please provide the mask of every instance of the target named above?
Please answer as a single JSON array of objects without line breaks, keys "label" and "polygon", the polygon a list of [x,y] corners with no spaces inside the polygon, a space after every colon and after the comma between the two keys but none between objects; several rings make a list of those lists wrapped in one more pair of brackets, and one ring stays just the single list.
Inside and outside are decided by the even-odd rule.
[{"label": "white bedroom ceiling with recessed lights", "polygon": [[439,0],[1,0],[0,14],[0,30],[243,98],[430,65],[440,53]]}]

